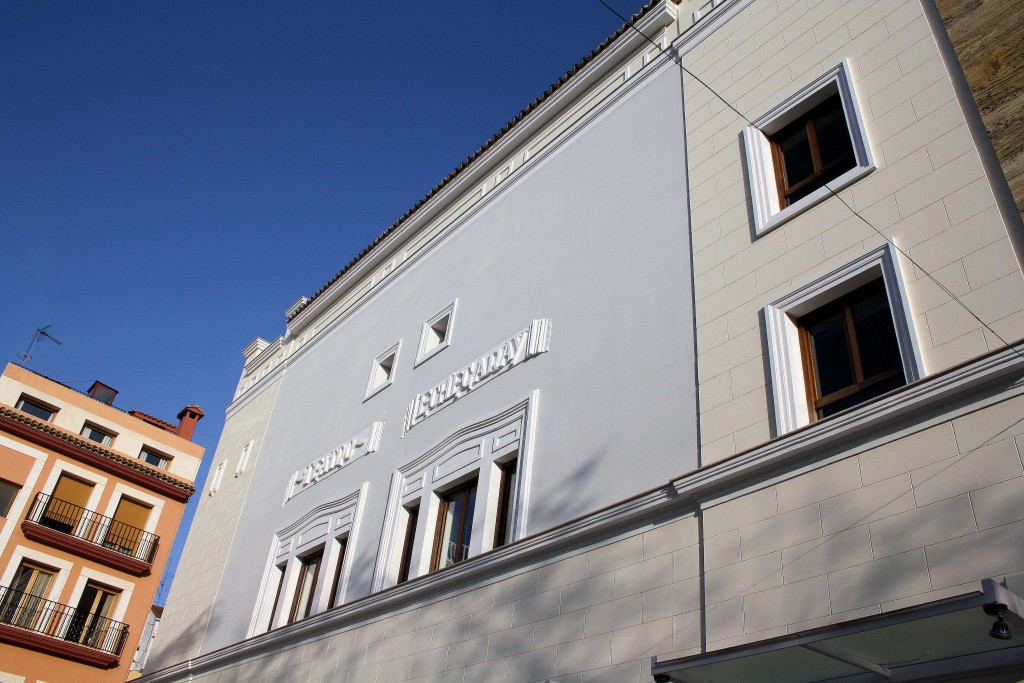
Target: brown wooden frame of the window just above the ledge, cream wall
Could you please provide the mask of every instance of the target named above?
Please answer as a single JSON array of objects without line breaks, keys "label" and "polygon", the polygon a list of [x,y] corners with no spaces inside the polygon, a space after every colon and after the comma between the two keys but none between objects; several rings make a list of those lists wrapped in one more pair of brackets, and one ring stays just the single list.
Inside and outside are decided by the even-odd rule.
[{"label": "brown wooden frame of the window just above the ledge, cream wall", "polygon": [[[866,285],[862,285],[852,292],[848,292],[847,294],[844,294],[843,296],[829,301],[822,306],[819,306],[796,321],[797,329],[800,333],[800,349],[803,360],[804,384],[807,391],[807,405],[812,422],[821,419],[823,417],[821,411],[827,407],[850,396],[864,392],[881,382],[888,381],[897,376],[903,377],[905,381],[906,373],[901,360],[897,361],[894,367],[889,368],[884,372],[878,373],[871,377],[864,377],[864,353],[861,352],[860,344],[857,341],[856,323],[853,318],[852,308],[856,303],[867,301],[870,297],[876,296],[882,296],[885,298],[891,315],[892,304],[889,302],[885,284],[882,280],[876,280],[867,283]],[[818,386],[818,368],[816,354],[814,352],[814,340],[808,330],[808,327],[816,322],[824,319],[825,317],[834,315],[837,312],[842,312],[841,319],[843,321],[843,331],[854,381],[852,384],[848,384],[845,387],[821,396],[819,395],[820,389]],[[893,339],[897,344],[896,355],[897,358],[899,358],[899,341],[898,333],[895,331],[895,326]],[[868,397],[865,397],[864,400],[867,400]]]}]

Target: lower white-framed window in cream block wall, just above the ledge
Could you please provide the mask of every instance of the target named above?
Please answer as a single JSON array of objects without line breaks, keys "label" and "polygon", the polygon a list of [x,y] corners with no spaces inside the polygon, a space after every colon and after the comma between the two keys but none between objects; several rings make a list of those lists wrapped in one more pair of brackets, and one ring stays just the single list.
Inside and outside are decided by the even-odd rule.
[{"label": "lower white-framed window in cream block wall, just above the ledge", "polygon": [[887,243],[765,307],[779,434],[921,377],[906,301]]}]

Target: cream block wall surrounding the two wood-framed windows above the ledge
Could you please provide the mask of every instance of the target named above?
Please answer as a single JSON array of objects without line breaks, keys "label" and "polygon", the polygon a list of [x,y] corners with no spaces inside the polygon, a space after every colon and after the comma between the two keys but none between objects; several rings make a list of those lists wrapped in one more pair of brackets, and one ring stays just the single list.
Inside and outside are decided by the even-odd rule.
[{"label": "cream block wall surrounding the two wood-framed windows above the ledge", "polygon": [[[878,170],[841,193],[906,251],[901,266],[927,373],[1024,335],[1024,281],[919,0],[755,0],[684,54],[686,68],[754,119],[850,60]],[[773,434],[760,312],[883,238],[836,199],[757,239],[745,122],[685,82],[703,463]]]}]

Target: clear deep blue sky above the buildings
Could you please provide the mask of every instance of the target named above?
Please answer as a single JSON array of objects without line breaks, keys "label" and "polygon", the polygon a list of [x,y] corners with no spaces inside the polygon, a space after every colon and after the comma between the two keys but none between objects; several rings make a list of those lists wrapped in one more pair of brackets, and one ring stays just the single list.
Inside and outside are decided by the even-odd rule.
[{"label": "clear deep blue sky above the buildings", "polygon": [[205,479],[242,348],[620,25],[598,0],[5,0],[3,360],[51,325],[30,369],[199,403]]}]

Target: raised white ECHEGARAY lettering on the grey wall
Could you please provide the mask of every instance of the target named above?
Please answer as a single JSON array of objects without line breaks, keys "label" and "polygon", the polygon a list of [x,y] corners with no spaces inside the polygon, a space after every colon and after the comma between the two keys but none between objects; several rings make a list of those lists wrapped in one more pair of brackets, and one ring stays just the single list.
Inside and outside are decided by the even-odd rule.
[{"label": "raised white ECHEGARAY lettering on the grey wall", "polygon": [[458,370],[447,379],[413,397],[406,411],[401,435],[437,411],[466,395],[488,380],[551,348],[551,318],[534,321],[489,352]]}]

